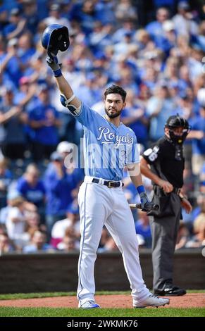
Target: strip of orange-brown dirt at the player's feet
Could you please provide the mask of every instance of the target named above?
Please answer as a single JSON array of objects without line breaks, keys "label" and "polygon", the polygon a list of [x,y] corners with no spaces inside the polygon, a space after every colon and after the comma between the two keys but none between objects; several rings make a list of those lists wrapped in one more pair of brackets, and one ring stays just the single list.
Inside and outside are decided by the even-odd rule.
[{"label": "strip of orange-brown dirt at the player's feet", "polygon": [[[95,296],[101,308],[132,308],[132,298],[129,295],[100,295]],[[170,305],[162,308],[193,308],[205,307],[204,293],[191,293],[185,296],[169,296]],[[52,298],[1,300],[0,306],[14,307],[69,307],[77,308],[75,296],[58,296]]]}]

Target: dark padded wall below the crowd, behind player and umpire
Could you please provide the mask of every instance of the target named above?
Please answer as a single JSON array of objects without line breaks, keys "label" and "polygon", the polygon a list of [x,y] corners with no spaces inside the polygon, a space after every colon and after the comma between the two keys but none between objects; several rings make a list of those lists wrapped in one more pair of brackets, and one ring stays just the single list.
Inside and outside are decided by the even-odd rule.
[{"label": "dark padded wall below the crowd, behind player and umpire", "polygon": [[[151,251],[139,253],[144,281],[152,288]],[[78,253],[6,254],[0,256],[0,293],[67,292],[77,288]],[[122,291],[130,285],[118,252],[98,254],[96,289]],[[205,288],[201,249],[175,253],[174,283],[186,289]]]}]

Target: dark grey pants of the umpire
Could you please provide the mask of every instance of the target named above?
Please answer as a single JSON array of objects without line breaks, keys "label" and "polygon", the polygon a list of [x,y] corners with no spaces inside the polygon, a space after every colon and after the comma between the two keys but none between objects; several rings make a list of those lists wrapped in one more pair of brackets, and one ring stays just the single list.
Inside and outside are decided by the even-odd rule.
[{"label": "dark grey pants of the umpire", "polygon": [[174,215],[150,216],[154,290],[162,290],[166,282],[173,282],[173,255],[181,216],[180,197],[170,193],[170,204]]}]

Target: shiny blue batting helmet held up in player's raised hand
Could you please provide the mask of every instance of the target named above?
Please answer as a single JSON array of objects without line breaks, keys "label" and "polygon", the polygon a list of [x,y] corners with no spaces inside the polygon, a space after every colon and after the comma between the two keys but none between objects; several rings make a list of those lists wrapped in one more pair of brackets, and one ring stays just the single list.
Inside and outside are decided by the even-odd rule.
[{"label": "shiny blue batting helmet held up in player's raised hand", "polygon": [[47,49],[48,54],[57,54],[58,51],[66,51],[70,45],[68,28],[59,25],[51,24],[44,30],[42,35],[42,46]]}]

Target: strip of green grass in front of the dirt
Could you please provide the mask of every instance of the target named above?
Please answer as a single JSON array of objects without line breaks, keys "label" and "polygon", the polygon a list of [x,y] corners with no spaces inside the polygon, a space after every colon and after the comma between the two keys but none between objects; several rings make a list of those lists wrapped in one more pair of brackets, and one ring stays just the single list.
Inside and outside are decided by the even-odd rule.
[{"label": "strip of green grass in front of the dirt", "polygon": [[15,308],[1,307],[0,317],[202,317],[205,308]]}]

